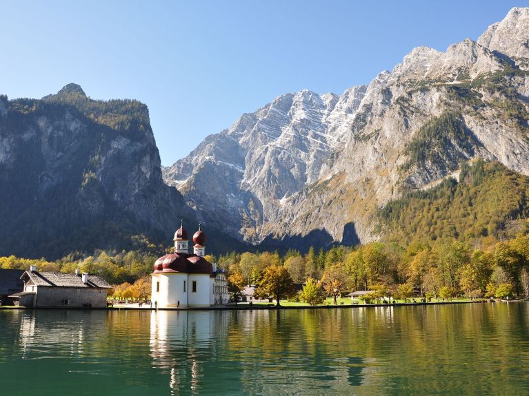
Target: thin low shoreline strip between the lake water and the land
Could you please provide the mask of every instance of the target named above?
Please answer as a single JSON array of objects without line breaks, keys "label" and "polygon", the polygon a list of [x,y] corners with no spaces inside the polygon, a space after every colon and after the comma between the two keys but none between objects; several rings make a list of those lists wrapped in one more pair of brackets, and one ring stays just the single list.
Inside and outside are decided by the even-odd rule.
[{"label": "thin low shoreline strip between the lake water and the land", "polygon": [[[496,300],[496,302],[521,302],[526,300]],[[24,309],[30,309],[30,310],[36,310],[36,309],[62,309],[65,311],[69,310],[83,310],[83,311],[279,311],[282,309],[357,309],[357,308],[377,308],[377,307],[393,307],[393,306],[429,306],[429,305],[449,305],[449,304],[490,304],[490,301],[488,300],[479,300],[479,301],[445,301],[445,302],[399,302],[397,304],[362,304],[362,305],[317,305],[317,306],[276,306],[276,305],[269,305],[269,306],[197,306],[192,308],[150,308],[150,307],[138,307],[138,306],[110,306],[110,307],[93,307],[93,308],[83,308],[83,307],[68,307],[63,308],[61,306],[59,307],[53,307],[53,306],[47,306],[47,307],[39,307],[39,308],[26,308],[24,306],[0,306],[0,310],[24,310]]]}]

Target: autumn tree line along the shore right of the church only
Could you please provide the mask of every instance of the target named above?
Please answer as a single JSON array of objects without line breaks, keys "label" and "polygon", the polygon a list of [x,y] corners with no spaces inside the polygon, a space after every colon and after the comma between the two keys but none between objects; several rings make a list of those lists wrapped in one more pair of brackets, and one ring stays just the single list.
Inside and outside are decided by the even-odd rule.
[{"label": "autumn tree line along the shore right of the church only", "polygon": [[[234,293],[255,284],[257,295],[276,296],[273,291],[278,286],[270,288],[268,284],[288,274],[291,283],[305,284],[299,297],[306,302],[319,302],[328,295],[336,303],[343,293],[368,290],[373,292],[368,298],[403,300],[414,294],[430,300],[457,295],[529,296],[527,233],[503,241],[484,239],[479,245],[448,239],[408,246],[370,242],[318,253],[311,248],[306,255],[290,250],[282,257],[277,252],[230,253],[219,257],[219,264],[230,274]],[[281,297],[294,294],[288,288],[282,293]]]}]

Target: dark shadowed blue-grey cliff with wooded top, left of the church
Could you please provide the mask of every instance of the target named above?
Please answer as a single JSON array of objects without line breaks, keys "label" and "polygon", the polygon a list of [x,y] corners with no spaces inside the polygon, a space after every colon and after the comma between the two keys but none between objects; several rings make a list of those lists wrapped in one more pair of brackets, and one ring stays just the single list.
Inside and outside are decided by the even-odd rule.
[{"label": "dark shadowed blue-grey cliff with wooded top, left of the church", "polygon": [[0,191],[0,255],[168,244],[179,218],[195,219],[163,183],[147,107],[93,101],[74,84],[0,98]]}]

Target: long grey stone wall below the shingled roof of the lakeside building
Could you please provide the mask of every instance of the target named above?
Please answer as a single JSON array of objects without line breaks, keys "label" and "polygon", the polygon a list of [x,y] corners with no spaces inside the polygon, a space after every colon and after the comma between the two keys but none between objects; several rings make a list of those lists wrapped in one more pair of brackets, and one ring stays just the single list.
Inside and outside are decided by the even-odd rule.
[{"label": "long grey stone wall below the shingled roof of the lakeside building", "polygon": [[[28,288],[29,289],[29,288]],[[37,290],[34,290],[37,289]],[[33,286],[36,291],[35,307],[73,307],[79,308],[91,304],[92,308],[106,306],[106,289],[82,287]],[[68,300],[68,304],[65,304]],[[21,304],[23,302],[21,301]]]}]

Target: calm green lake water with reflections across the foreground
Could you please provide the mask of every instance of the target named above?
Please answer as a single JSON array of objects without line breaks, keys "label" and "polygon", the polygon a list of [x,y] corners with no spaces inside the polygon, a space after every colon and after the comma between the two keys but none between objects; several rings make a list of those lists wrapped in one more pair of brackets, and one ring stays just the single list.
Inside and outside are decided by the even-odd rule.
[{"label": "calm green lake water with reflections across the foreground", "polygon": [[529,395],[529,303],[1,310],[0,395]]}]

